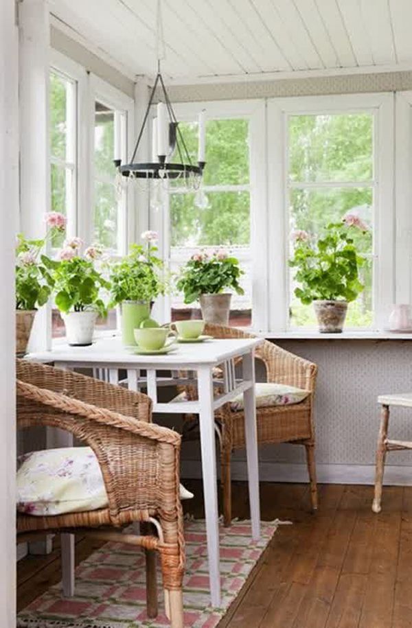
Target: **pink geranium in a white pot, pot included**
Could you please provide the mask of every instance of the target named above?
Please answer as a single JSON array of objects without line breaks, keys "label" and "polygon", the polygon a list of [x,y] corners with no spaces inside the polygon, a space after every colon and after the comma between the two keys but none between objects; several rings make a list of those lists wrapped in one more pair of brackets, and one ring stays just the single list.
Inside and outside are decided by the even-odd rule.
[{"label": "pink geranium in a white pot, pot included", "polygon": [[101,291],[110,288],[96,268],[100,248],[89,246],[80,255],[81,245],[80,238],[73,237],[59,251],[58,260],[49,260],[54,301],[65,321],[67,342],[80,347],[91,345],[96,318],[105,316],[107,311]]}]

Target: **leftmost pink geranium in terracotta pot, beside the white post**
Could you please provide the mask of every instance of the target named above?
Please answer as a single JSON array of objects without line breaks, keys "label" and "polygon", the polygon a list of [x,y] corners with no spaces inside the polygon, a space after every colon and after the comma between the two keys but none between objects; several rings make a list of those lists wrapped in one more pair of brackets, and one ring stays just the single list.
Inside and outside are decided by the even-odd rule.
[{"label": "leftmost pink geranium in terracotta pot, beside the white post", "polygon": [[47,232],[38,240],[27,240],[19,233],[16,242],[16,353],[23,355],[32,331],[38,307],[47,303],[54,281],[49,272],[49,258],[42,255],[45,244],[54,234],[65,231],[66,219],[51,211],[45,215]]}]

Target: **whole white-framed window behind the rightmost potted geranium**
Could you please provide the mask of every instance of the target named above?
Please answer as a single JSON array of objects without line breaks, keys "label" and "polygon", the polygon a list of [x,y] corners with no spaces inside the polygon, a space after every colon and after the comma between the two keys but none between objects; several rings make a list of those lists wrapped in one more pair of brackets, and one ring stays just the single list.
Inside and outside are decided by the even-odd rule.
[{"label": "whole white-framed window behind the rightmost potted geranium", "polygon": [[348,94],[268,101],[268,329],[315,328],[295,298],[290,233],[319,236],[356,213],[370,227],[358,241],[365,290],[347,328],[382,329],[395,296],[393,95]]}]

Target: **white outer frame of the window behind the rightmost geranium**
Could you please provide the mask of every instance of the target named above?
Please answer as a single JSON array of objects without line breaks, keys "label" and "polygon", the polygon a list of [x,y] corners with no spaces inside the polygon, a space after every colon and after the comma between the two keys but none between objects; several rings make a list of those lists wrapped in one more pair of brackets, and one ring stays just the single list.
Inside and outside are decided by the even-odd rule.
[{"label": "white outer frame of the window behind the rightmost geranium", "polygon": [[395,295],[393,94],[367,93],[268,100],[268,213],[271,242],[269,326],[288,332],[288,115],[374,113],[374,329],[382,329]]}]

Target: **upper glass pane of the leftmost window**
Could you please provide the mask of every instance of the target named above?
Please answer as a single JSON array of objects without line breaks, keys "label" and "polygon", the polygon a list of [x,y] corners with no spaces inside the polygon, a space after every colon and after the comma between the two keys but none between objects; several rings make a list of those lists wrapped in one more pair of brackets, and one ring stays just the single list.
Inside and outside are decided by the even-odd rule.
[{"label": "upper glass pane of the leftmost window", "polygon": [[66,159],[67,143],[67,86],[69,81],[58,74],[50,73],[50,150],[54,157]]}]

